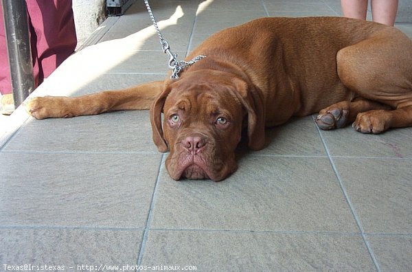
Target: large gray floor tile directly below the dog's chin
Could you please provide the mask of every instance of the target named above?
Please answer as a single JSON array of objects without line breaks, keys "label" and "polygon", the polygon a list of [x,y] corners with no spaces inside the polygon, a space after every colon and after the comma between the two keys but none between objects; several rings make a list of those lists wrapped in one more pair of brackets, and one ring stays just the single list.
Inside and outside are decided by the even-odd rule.
[{"label": "large gray floor tile directly below the dog's chin", "polygon": [[328,159],[240,159],[225,181],[172,181],[165,171],[152,227],[358,231]]}]

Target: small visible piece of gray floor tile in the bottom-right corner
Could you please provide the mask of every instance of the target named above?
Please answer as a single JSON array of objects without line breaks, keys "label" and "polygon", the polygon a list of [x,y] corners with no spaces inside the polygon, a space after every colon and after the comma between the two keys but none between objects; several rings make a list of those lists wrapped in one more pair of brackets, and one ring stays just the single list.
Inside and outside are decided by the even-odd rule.
[{"label": "small visible piece of gray floor tile in the bottom-right corner", "polygon": [[381,271],[411,271],[412,236],[368,235]]}]

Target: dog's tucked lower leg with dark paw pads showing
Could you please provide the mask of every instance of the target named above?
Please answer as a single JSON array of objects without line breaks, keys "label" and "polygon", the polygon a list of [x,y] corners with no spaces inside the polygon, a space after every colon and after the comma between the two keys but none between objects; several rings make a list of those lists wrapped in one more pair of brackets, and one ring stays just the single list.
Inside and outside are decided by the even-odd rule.
[{"label": "dog's tucked lower leg with dark paw pads showing", "polygon": [[354,122],[358,113],[378,109],[389,110],[391,107],[379,102],[364,99],[356,100],[354,102],[342,101],[319,111],[319,115],[315,122],[319,128],[325,131],[334,128],[343,128],[347,124]]}]

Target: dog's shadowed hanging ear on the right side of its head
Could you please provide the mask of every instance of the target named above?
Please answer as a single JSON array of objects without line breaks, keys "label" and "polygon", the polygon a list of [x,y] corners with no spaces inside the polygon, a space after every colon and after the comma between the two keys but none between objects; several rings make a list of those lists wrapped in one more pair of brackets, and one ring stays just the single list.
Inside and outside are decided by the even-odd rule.
[{"label": "dog's shadowed hanging ear on the right side of its head", "polygon": [[236,78],[236,96],[247,110],[247,135],[249,148],[260,150],[264,148],[265,105],[262,91],[244,80]]}]

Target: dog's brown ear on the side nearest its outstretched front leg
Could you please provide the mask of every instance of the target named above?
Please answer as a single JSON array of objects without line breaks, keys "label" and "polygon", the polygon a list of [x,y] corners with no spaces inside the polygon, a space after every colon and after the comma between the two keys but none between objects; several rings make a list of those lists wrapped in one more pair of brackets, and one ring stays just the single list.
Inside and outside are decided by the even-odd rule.
[{"label": "dog's brown ear on the side nearest its outstretched front leg", "polygon": [[152,124],[152,137],[159,152],[167,152],[169,150],[163,136],[163,128],[161,126],[161,113],[165,100],[172,89],[170,86],[165,86],[165,89],[157,96],[155,102],[150,107],[150,123]]}]

